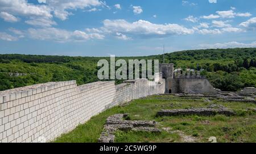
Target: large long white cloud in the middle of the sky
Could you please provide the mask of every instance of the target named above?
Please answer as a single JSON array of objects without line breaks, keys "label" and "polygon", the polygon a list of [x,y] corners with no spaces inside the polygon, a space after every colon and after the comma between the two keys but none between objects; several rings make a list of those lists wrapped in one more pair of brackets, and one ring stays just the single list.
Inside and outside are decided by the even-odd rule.
[{"label": "large long white cloud in the middle of the sky", "polygon": [[104,29],[108,33],[122,33],[134,37],[166,37],[171,35],[189,35],[193,29],[178,24],[153,24],[145,20],[129,23],[126,20],[104,20]]}]

